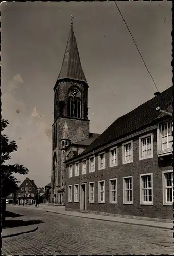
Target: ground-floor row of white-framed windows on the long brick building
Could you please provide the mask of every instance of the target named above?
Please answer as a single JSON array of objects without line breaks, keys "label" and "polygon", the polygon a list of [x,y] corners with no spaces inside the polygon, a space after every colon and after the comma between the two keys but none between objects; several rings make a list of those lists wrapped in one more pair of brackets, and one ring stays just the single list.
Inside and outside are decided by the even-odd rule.
[{"label": "ground-floor row of white-framed windows on the long brick building", "polygon": [[[173,173],[162,172],[163,205],[173,202]],[[117,178],[109,180],[110,204],[117,204]],[[68,202],[72,202],[72,185],[68,186]],[[74,185],[74,202],[79,202],[79,184]],[[89,182],[89,203],[95,202],[95,182]],[[98,181],[98,203],[105,203],[105,180]],[[133,177],[123,177],[123,204],[133,204]],[[140,175],[140,204],[153,205],[153,174]]]}]

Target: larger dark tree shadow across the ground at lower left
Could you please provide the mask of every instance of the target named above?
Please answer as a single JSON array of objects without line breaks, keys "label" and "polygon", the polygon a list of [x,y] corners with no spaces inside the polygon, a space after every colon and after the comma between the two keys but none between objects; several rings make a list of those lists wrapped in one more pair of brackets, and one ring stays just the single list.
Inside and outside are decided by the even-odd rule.
[{"label": "larger dark tree shadow across the ground at lower left", "polygon": [[3,228],[29,226],[29,225],[36,225],[40,223],[43,223],[43,221],[41,220],[28,220],[28,221],[6,220],[5,224],[3,225]]}]

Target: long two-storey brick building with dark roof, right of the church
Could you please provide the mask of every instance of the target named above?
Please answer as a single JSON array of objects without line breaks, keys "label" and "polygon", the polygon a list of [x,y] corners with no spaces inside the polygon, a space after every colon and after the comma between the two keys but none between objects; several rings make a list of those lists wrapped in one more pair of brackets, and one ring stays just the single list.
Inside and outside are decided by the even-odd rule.
[{"label": "long two-storey brick building with dark roof, right of the church", "polygon": [[66,163],[66,209],[172,219],[172,87],[118,118]]}]

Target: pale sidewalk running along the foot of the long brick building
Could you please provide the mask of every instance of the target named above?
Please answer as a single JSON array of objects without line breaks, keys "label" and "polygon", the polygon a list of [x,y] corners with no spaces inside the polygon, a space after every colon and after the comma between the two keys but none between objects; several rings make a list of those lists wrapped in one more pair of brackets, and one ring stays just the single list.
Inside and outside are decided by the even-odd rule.
[{"label": "pale sidewalk running along the foot of the long brick building", "polygon": [[[15,207],[25,207],[15,205]],[[26,207],[25,207],[26,208]],[[106,216],[106,215],[98,215],[98,214],[88,214],[78,211],[65,211],[65,206],[50,206],[46,204],[39,204],[39,207],[31,206],[28,209],[35,209],[35,210],[43,210],[46,212],[53,212],[55,214],[62,214],[68,216],[76,216],[81,218],[88,218],[88,219],[95,219],[95,220],[105,220],[105,221],[113,221],[113,222],[120,222],[125,224],[132,224],[132,225],[140,225],[140,226],[148,226],[148,227],[156,227],[156,228],[164,228],[164,229],[173,229],[173,222],[156,222],[156,221],[147,221],[147,220],[139,220],[139,219],[131,219],[131,218],[121,218],[115,216]]]}]

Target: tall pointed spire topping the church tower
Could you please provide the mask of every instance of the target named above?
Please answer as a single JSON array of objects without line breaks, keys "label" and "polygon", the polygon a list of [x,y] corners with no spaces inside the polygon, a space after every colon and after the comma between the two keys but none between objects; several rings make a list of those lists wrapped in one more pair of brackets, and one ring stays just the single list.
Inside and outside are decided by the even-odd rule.
[{"label": "tall pointed spire topping the church tower", "polygon": [[87,83],[85,75],[82,70],[76,37],[73,31],[73,16],[71,16],[71,29],[58,80],[64,78],[83,81]]}]

